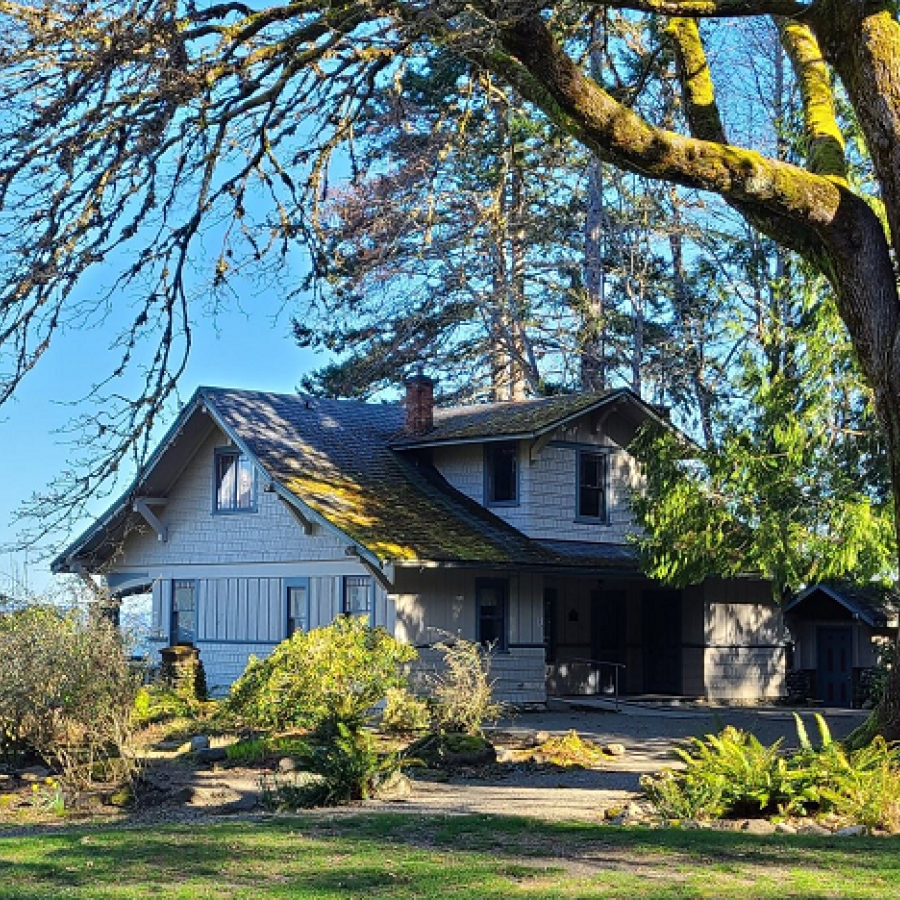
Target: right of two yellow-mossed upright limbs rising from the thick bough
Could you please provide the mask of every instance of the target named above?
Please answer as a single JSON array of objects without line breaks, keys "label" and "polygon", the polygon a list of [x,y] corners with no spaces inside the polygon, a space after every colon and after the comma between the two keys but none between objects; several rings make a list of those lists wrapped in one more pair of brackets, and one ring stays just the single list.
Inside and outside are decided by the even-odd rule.
[{"label": "right of two yellow-mossed upright limbs rising from the thick bough", "polygon": [[803,99],[809,170],[846,185],[844,136],[835,116],[831,79],[819,43],[809,26],[802,22],[781,19],[778,31]]}]

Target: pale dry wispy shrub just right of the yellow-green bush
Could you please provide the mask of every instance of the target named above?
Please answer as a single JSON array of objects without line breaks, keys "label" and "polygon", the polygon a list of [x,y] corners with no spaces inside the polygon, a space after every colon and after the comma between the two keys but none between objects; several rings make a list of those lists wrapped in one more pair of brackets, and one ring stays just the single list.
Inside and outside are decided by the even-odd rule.
[{"label": "pale dry wispy shrub just right of the yellow-green bush", "polygon": [[429,676],[433,725],[442,731],[481,734],[502,706],[493,700],[491,655],[480,644],[454,637],[435,644],[443,665]]}]

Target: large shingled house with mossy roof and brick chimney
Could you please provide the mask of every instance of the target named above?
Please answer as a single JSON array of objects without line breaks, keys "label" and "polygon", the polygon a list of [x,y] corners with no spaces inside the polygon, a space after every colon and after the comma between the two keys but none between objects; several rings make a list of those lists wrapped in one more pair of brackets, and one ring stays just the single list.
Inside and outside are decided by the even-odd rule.
[{"label": "large shingled house with mossy roof and brick chimney", "polygon": [[[672,590],[628,545],[628,446],[662,421],[628,390],[405,408],[200,388],[127,494],[55,561],[152,591],[160,647],[220,691],[296,629],[363,614],[428,645],[492,643],[498,696],[783,693],[785,641],[754,578]],[[603,663],[600,665],[599,663]]]}]

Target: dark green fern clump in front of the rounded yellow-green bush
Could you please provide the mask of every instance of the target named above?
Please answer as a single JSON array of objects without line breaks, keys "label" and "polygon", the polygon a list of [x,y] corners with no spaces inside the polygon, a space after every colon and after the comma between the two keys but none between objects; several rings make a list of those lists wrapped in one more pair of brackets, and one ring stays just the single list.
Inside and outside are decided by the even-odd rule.
[{"label": "dark green fern clump in front of the rounded yellow-green bush", "polygon": [[[292,779],[263,780],[267,806],[339,806],[368,800],[402,765],[399,754],[379,753],[371,734],[353,731],[343,722],[337,723],[335,734],[326,742],[298,750],[303,773]],[[316,777],[310,779],[306,773]]]}]

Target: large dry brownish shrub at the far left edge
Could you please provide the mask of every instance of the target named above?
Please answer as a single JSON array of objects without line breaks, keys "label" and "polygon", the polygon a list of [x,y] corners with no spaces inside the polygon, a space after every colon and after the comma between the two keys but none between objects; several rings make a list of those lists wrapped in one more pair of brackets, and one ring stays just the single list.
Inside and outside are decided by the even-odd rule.
[{"label": "large dry brownish shrub at the far left edge", "polygon": [[48,606],[0,614],[0,756],[37,755],[65,785],[133,773],[138,676],[106,620]]}]

